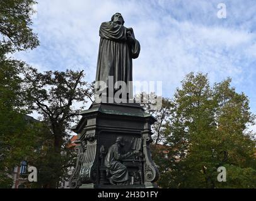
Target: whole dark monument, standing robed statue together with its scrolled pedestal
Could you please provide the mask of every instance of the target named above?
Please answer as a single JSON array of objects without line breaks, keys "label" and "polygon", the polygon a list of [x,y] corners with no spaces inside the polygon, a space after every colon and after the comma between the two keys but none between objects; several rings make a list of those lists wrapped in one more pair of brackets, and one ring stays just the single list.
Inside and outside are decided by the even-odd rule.
[{"label": "whole dark monument, standing robed statue together with its scrolled pedestal", "polygon": [[139,57],[140,48],[132,28],[124,26],[122,14],[115,13],[100,26],[95,92],[100,89],[98,83],[105,84],[108,99],[93,102],[72,128],[78,133],[78,155],[70,188],[156,187],[159,173],[149,148],[156,119],[139,104],[111,97],[117,82],[129,85],[132,81],[132,59]]}]

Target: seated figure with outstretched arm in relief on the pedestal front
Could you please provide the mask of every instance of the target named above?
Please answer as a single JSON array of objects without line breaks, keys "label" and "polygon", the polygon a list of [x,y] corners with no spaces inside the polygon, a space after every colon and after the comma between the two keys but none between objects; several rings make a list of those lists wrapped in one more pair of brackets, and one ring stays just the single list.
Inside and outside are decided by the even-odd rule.
[{"label": "seated figure with outstretched arm in relief on the pedestal front", "polygon": [[107,177],[112,185],[129,185],[129,176],[127,167],[122,164],[122,160],[136,155],[139,151],[131,151],[122,155],[120,149],[124,146],[124,138],[117,137],[115,144],[108,149],[105,157],[105,166],[107,167]]}]

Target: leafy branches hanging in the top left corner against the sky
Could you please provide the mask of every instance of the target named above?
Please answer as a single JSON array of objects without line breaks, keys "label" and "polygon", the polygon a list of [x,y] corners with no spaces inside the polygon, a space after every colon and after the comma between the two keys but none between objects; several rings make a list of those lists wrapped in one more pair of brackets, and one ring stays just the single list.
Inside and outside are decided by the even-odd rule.
[{"label": "leafy branches hanging in the top left corner against the sky", "polygon": [[33,0],[0,1],[0,53],[33,49],[39,45],[32,31]]}]

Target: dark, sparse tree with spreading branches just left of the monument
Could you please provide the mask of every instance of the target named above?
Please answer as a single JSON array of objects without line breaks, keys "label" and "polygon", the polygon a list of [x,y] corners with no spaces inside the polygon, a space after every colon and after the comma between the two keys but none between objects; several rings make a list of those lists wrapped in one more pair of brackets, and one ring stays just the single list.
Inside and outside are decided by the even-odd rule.
[{"label": "dark, sparse tree with spreading branches just left of the monument", "polygon": [[[52,133],[52,145],[45,150],[45,163],[40,165],[44,172],[44,187],[56,188],[70,166],[73,156],[66,144],[70,138],[71,123],[78,119],[81,109],[93,95],[93,84],[84,81],[83,71],[38,72],[29,67],[24,71],[26,95],[32,100],[31,109],[42,114]],[[75,103],[83,104],[76,109]],[[42,161],[42,160],[40,160]]]}]

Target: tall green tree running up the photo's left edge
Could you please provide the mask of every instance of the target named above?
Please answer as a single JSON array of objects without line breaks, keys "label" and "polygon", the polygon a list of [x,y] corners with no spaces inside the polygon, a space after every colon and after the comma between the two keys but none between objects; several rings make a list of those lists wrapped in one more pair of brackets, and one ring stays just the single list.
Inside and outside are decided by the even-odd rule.
[{"label": "tall green tree running up the photo's left edge", "polygon": [[35,1],[0,1],[0,185],[10,187],[6,177],[14,165],[29,156],[36,134],[26,121],[28,100],[23,93],[21,68],[25,63],[10,57],[11,53],[38,46],[32,32],[31,15]]}]

